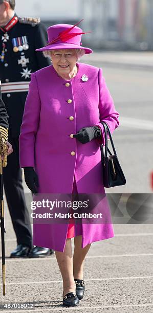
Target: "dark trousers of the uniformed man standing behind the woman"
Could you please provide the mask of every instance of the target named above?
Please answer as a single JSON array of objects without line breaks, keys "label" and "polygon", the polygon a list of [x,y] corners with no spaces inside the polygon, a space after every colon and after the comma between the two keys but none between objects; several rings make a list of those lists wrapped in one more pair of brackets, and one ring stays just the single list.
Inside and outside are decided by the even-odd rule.
[{"label": "dark trousers of the uniformed man standing behind the woman", "polygon": [[8,208],[17,244],[26,244],[32,248],[30,218],[22,185],[22,171],[19,167],[19,142],[18,138],[11,138],[10,136],[8,141],[13,146],[13,153],[7,159],[7,167],[3,168],[4,189]]}]

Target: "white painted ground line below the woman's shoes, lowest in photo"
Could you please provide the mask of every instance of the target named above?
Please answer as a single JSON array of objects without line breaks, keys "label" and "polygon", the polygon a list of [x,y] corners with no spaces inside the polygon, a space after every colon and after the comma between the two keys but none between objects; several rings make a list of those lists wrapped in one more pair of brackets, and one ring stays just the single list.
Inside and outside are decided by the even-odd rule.
[{"label": "white painted ground line below the woman's shoes, lowest in photo", "polygon": [[[51,305],[50,305],[51,306]],[[84,309],[96,309],[96,308],[122,308],[122,307],[145,307],[145,306],[153,306],[153,303],[143,303],[143,304],[123,304],[123,305],[102,305],[102,306],[80,306],[80,307],[78,307],[78,306],[73,306],[73,308],[71,308],[71,310],[73,309],[73,310],[84,310]],[[61,304],[61,307],[59,307],[59,304],[58,304],[58,307],[55,307],[55,308],[43,308],[43,306],[42,307],[37,307],[37,306],[34,306],[33,307],[34,309],[23,309],[23,310],[12,310],[12,312],[15,312],[15,313],[17,313],[17,312],[27,312],[27,313],[29,313],[29,312],[38,312],[38,311],[45,311],[45,312],[47,312],[47,311],[49,311],[49,312],[51,312],[51,311],[59,311],[59,310],[69,310],[69,308],[68,308],[68,306],[63,306],[62,304]],[[6,313],[10,313],[10,311],[7,311],[6,309],[4,309],[4,312],[6,312]]]}]

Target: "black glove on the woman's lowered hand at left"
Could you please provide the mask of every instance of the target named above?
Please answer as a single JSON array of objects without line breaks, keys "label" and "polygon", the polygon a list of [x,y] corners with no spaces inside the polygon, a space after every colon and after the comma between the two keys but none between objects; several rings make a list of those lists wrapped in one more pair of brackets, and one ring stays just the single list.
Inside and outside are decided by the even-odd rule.
[{"label": "black glove on the woman's lowered hand at left", "polygon": [[33,167],[24,167],[25,182],[32,193],[37,193],[38,176]]}]

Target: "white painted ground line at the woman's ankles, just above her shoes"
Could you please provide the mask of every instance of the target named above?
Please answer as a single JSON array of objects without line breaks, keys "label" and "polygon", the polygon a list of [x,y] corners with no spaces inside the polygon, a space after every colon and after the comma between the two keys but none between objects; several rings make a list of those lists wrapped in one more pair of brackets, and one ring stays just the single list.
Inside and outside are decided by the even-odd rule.
[{"label": "white painted ground line at the woman's ankles, just above her shoes", "polygon": [[[130,279],[152,279],[153,276],[132,276],[132,277],[110,277],[110,278],[92,278],[85,279],[85,281],[105,281],[105,280],[130,280]],[[25,281],[16,283],[7,283],[7,285],[31,285],[31,284],[50,284],[50,283],[62,283],[62,280],[42,280],[42,281]],[[2,283],[1,283],[2,285]]]}]

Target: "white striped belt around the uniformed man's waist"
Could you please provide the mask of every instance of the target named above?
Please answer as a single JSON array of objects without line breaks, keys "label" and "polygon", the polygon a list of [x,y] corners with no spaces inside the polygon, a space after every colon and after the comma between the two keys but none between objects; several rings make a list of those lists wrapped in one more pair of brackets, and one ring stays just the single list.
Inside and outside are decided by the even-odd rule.
[{"label": "white striped belt around the uniformed man's waist", "polygon": [[1,84],[1,92],[5,93],[21,93],[29,91],[29,81],[15,81]]}]

